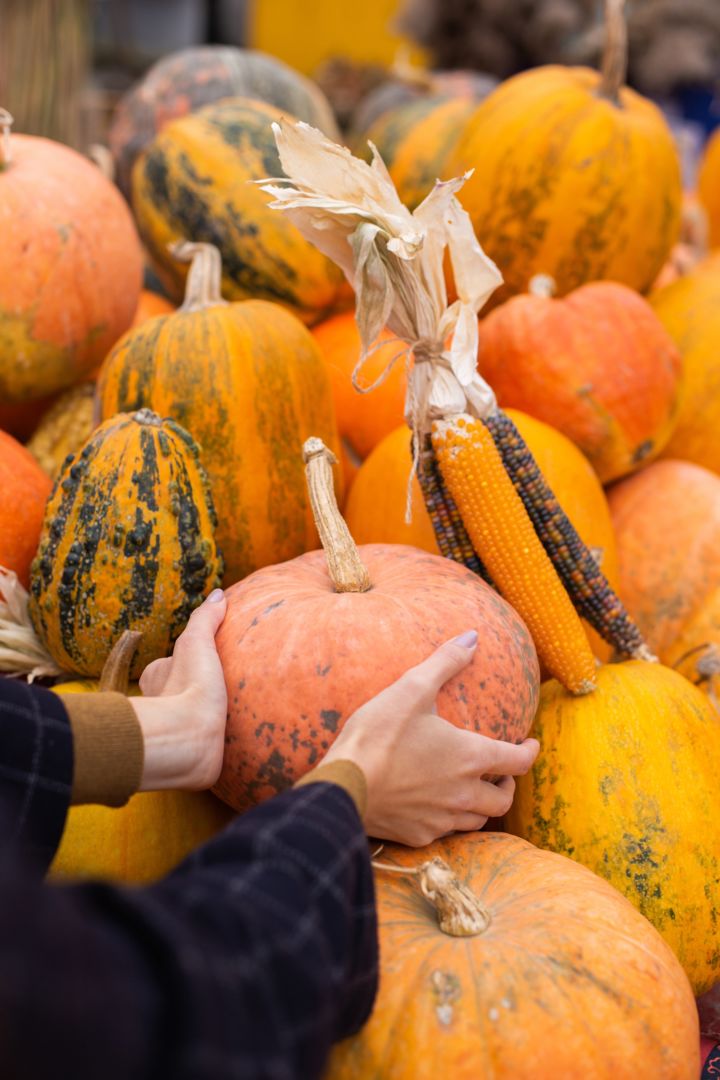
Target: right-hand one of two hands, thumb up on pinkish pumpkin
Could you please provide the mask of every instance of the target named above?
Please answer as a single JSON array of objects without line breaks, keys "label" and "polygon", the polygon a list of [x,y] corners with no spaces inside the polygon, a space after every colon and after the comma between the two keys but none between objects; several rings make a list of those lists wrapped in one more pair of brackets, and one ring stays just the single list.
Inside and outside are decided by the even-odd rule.
[{"label": "right-hand one of two hands, thumb up on pinkish pumpkin", "polygon": [[[474,631],[446,642],[353,713],[326,754],[324,761],[352,760],[365,773],[370,836],[424,847],[510,810],[513,778],[529,771],[538,741],[488,739],[434,712],[438,691],[476,647]],[[502,779],[491,783],[486,775]]]}]

